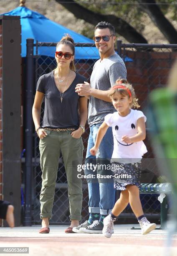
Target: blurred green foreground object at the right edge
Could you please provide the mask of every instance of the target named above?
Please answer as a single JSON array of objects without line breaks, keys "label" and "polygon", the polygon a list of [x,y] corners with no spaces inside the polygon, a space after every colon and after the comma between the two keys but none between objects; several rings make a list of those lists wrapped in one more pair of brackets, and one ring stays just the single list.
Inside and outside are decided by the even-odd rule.
[{"label": "blurred green foreground object at the right edge", "polygon": [[[172,226],[167,240],[169,247],[171,236],[177,230],[177,62],[170,72],[168,87],[150,93],[148,119],[153,128],[151,141],[157,164],[172,185]],[[166,255],[170,255],[169,250]]]}]

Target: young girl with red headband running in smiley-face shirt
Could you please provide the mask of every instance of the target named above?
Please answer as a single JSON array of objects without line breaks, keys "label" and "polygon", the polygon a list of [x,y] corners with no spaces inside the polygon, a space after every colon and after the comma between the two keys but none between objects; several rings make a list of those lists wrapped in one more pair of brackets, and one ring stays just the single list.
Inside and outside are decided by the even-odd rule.
[{"label": "young girl with red headband running in smiley-face shirt", "polygon": [[109,96],[117,112],[108,114],[100,126],[96,143],[90,152],[95,155],[99,149],[104,134],[111,126],[114,136],[114,151],[112,154],[112,170],[114,187],[121,190],[119,200],[114,205],[111,213],[104,218],[103,234],[111,237],[113,223],[128,203],[138,219],[142,234],[145,235],[156,228],[155,223],[150,223],[144,216],[139,198],[140,163],[147,148],[143,143],[146,137],[146,117],[139,110],[134,89],[125,79],[118,79],[116,85],[110,89]]}]

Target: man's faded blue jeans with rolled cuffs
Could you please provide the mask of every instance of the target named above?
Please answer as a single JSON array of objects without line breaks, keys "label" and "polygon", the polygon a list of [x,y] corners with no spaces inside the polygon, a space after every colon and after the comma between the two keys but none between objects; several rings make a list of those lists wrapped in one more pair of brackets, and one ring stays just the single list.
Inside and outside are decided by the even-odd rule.
[{"label": "man's faded blue jeans with rolled cuffs", "polygon": [[[96,156],[90,154],[90,149],[94,146],[96,141],[96,134],[101,124],[92,125],[90,127],[90,135],[88,138],[88,146],[86,153],[85,164],[109,164],[113,152],[113,135],[112,128],[108,128],[104,138],[99,146],[99,151]],[[112,174],[111,170],[96,170],[86,169],[84,171],[88,174]],[[115,202],[115,189],[113,179],[87,179],[88,182],[88,211],[89,213],[100,213],[107,215],[111,212]]]}]

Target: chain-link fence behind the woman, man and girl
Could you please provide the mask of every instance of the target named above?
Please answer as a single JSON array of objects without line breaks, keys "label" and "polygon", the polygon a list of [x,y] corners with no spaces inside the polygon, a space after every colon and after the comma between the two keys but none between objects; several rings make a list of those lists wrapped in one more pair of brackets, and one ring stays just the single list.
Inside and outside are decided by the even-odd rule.
[{"label": "chain-link fence behind the woman, man and girl", "polygon": [[[35,88],[38,78],[51,72],[56,68],[55,56],[56,43],[37,42],[35,46]],[[87,59],[76,59],[75,65],[77,72],[86,77],[89,82],[91,72],[96,59],[92,58],[92,53],[97,51],[94,44],[76,44],[77,51],[85,51]],[[38,54],[39,49],[43,47],[44,54]],[[51,54],[48,52],[51,51]],[[146,108],[148,103],[148,95],[151,90],[157,87],[163,87],[167,83],[167,77],[172,63],[177,56],[177,45],[147,45],[147,44],[121,44],[117,42],[117,51],[124,59],[127,68],[127,79],[133,84],[141,110]],[[53,56],[53,57],[51,57]],[[44,112],[44,103],[41,108],[41,122]],[[150,131],[150,124],[147,131]],[[89,127],[86,125],[86,132],[83,134],[84,157],[86,156],[87,140],[89,136]],[[146,164],[142,168],[142,183],[156,183],[159,177],[159,171],[154,161],[152,149],[150,146],[149,134],[145,141],[148,153],[145,155]],[[39,139],[33,131],[33,177],[32,177],[32,223],[39,224],[40,220],[40,189],[41,189],[41,169],[39,154]],[[144,212],[148,217],[159,218],[160,202],[157,200],[158,195],[141,195],[141,201]],[[116,198],[119,192],[116,192]],[[58,175],[56,182],[55,198],[53,203],[53,224],[68,224],[69,220],[69,201],[66,172],[63,165],[62,156],[60,156]],[[83,181],[83,219],[88,219],[88,187],[86,180]],[[134,218],[134,214],[128,205],[120,217]]]}]

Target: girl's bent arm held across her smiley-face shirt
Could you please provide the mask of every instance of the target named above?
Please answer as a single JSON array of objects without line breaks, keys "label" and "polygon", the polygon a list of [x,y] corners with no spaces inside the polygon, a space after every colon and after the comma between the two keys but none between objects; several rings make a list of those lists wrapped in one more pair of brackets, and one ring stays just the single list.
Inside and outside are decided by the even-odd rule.
[{"label": "girl's bent arm held across her smiley-face shirt", "polygon": [[134,136],[122,136],[121,140],[125,143],[134,143],[138,141],[143,141],[146,138],[146,126],[144,122],[144,117],[141,117],[137,120],[137,130],[138,133]]}]

